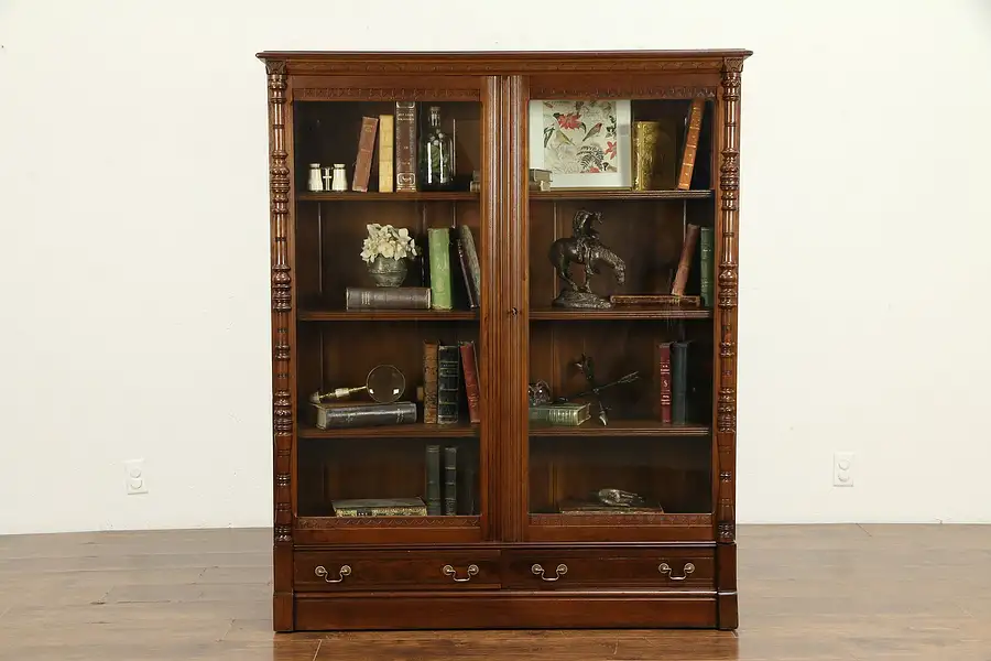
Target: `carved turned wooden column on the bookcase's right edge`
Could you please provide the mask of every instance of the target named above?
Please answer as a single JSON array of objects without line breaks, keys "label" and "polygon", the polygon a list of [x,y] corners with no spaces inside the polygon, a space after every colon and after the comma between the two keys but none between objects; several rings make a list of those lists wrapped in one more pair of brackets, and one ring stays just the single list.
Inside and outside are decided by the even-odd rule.
[{"label": "carved turned wooden column on the bookcase's right edge", "polygon": [[719,449],[717,534],[721,543],[736,540],[737,463],[737,296],[738,225],[740,219],[740,72],[742,58],[722,62],[719,117],[722,131],[719,162],[719,241],[717,324],[719,328],[719,383],[716,403],[716,442]]}]

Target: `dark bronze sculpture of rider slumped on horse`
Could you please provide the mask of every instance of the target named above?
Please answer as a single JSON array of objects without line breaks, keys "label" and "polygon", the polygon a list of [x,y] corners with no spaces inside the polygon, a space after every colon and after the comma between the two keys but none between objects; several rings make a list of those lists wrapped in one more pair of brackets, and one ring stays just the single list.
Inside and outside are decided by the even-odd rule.
[{"label": "dark bronze sculpture of rider slumped on horse", "polygon": [[[557,277],[565,282],[560,294],[554,300],[553,305],[556,307],[612,307],[608,299],[589,289],[589,280],[600,273],[599,267],[602,264],[612,269],[617,283],[623,284],[627,279],[627,264],[599,240],[599,232],[595,228],[597,221],[602,221],[602,214],[580,210],[571,220],[571,236],[551,243],[547,257],[554,264]],[[580,285],[569,274],[573,262],[585,266],[585,282]]]}]

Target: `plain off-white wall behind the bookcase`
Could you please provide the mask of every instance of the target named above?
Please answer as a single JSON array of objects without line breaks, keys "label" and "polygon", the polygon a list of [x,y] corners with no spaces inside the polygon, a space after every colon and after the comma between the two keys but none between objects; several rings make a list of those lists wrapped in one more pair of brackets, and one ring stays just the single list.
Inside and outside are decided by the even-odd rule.
[{"label": "plain off-white wall behind the bookcase", "polygon": [[476,4],[0,1],[0,533],[271,523],[254,53],[300,48],[753,50],[740,520],[991,521],[988,3]]}]

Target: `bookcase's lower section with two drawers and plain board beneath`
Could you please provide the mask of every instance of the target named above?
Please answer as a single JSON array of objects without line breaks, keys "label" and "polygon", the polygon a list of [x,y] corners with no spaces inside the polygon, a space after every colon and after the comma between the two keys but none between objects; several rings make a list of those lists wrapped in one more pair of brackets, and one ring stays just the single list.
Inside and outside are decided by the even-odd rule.
[{"label": "bookcase's lower section with two drawers and plain board beneath", "polygon": [[716,556],[715,544],[300,551],[287,630],[733,629]]}]

